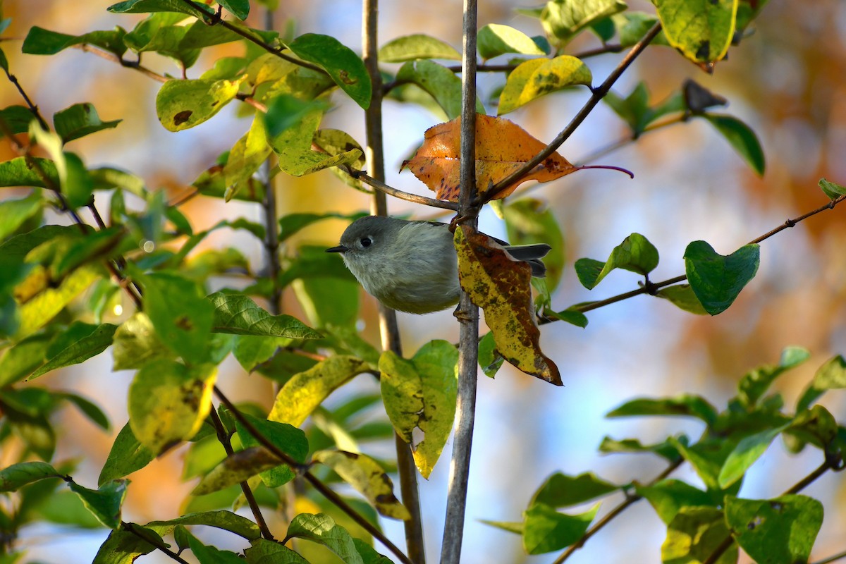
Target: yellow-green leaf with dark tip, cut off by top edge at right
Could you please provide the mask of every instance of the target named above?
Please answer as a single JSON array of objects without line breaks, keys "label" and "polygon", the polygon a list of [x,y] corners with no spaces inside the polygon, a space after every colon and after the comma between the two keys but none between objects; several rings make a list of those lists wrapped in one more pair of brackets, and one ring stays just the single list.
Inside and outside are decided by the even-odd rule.
[{"label": "yellow-green leaf with dark tip, cut off by top edge at right", "polygon": [[694,63],[726,56],[734,35],[737,0],[656,0],[669,44]]}]

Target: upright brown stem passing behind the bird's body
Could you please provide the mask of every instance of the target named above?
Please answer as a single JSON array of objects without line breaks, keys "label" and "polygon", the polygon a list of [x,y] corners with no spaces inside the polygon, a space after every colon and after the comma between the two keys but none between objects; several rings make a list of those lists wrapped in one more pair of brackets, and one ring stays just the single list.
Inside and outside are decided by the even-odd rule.
[{"label": "upright brown stem passing behind the bird's body", "polygon": [[[364,0],[362,3],[361,32],[362,55],[367,73],[370,74],[373,86],[373,96],[370,106],[365,112],[365,130],[367,134],[365,156],[367,170],[373,178],[385,181],[385,155],[382,141],[382,74],[379,73],[378,57],[378,0]],[[371,201],[371,213],[375,216],[387,216],[387,197],[376,190]],[[382,334],[382,349],[390,350],[402,356],[402,346],[399,339],[397,314],[393,309],[379,304],[379,328]],[[403,497],[403,504],[409,510],[411,518],[404,522],[405,543],[409,559],[415,564],[426,562],[423,539],[423,520],[420,516],[420,491],[417,487],[417,468],[411,449],[399,435],[394,433],[397,450],[397,471],[399,474],[399,490]]]}]

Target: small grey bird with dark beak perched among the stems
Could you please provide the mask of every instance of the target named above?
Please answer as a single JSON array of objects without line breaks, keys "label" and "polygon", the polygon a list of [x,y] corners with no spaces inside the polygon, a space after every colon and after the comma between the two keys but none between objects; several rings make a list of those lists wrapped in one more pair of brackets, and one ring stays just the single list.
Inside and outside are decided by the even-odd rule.
[{"label": "small grey bird with dark beak perched among the stems", "polygon": [[[544,277],[541,259],[547,244],[502,244],[514,260],[530,264],[533,277]],[[341,235],[343,262],[370,293],[391,309],[427,314],[459,303],[458,257],[446,223],[409,222],[383,216],[357,219]]]}]

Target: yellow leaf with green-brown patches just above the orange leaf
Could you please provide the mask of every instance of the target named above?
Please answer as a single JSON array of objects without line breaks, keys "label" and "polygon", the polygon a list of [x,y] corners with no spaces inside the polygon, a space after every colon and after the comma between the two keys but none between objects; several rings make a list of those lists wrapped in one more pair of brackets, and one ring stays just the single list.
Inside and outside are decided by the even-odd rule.
[{"label": "yellow leaf with green-brown patches just above the orange leaf", "polygon": [[499,96],[497,115],[513,112],[536,98],[568,86],[590,86],[592,80],[591,69],[576,57],[561,55],[553,59],[530,59],[508,74],[503,93]]}]

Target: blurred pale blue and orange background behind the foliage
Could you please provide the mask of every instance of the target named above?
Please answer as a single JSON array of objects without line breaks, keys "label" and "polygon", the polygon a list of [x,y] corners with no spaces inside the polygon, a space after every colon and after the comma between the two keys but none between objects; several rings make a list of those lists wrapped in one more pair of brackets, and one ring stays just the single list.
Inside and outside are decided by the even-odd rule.
[{"label": "blurred pale blue and orange background behind the foliage", "polygon": [[[32,25],[75,35],[113,25],[131,28],[140,19],[137,15],[108,14],[106,8],[111,3],[7,0],[4,15],[12,17],[13,23],[4,34],[3,51],[13,73],[45,116],[76,102],[91,101],[104,120],[124,119],[117,129],[75,142],[74,150],[89,166],[118,165],[140,174],[151,189],[182,194],[249,127],[248,120],[238,117],[237,103],[195,129],[171,134],[155,116],[159,84],[143,74],[74,49],[54,57],[19,52],[20,41]],[[480,25],[501,23],[529,35],[540,34],[535,21],[514,13],[520,5],[507,0],[483,1]],[[650,10],[651,4],[633,2],[632,8]],[[332,35],[358,49],[360,9],[360,3],[352,0],[294,0],[282,3],[277,24],[281,29],[290,20],[297,34]],[[261,25],[258,6],[254,6],[254,12],[253,25]],[[460,47],[461,20],[459,3],[448,0],[384,0],[380,42],[426,33]],[[753,28],[754,35],[733,48],[713,75],[704,74],[667,47],[655,47],[637,60],[615,90],[628,94],[638,81],[645,80],[653,100],[660,101],[678,90],[684,79],[697,80],[728,98],[730,105],[725,112],[755,129],[766,153],[766,174],[756,177],[707,123],[692,120],[645,135],[638,143],[602,157],[602,163],[633,171],[634,180],[617,172],[595,170],[531,188],[534,197],[548,203],[565,236],[567,267],[553,297],[558,309],[636,287],[636,277],[614,272],[589,292],[580,286],[572,267],[580,257],[604,260],[629,233],[644,234],[659,249],[661,264],[651,278],[660,281],[684,272],[682,255],[690,241],[705,239],[718,252],[728,254],[788,217],[825,204],[827,198],[816,185],[819,178],[846,183],[846,3],[771,0]],[[574,44],[574,51],[596,45],[595,38],[584,35]],[[195,78],[215,58],[238,54],[241,49],[240,45],[207,49],[190,69],[189,77]],[[603,79],[619,57],[610,54],[591,58],[588,63],[596,79]],[[144,63],[162,73],[178,73],[163,58],[145,56]],[[480,84],[485,96],[498,83],[497,78],[483,76]],[[554,94],[508,118],[538,139],[551,140],[587,96],[586,90]],[[343,101],[343,96],[336,95],[333,100],[338,107],[327,114],[324,125],[344,129],[363,143],[360,109]],[[2,107],[18,103],[16,90],[3,81]],[[409,172],[397,171],[400,162],[420,143],[425,129],[441,121],[441,116],[416,107],[386,103],[388,183],[426,193]],[[578,162],[626,134],[624,123],[601,106],[560,152]],[[8,143],[0,143],[0,156],[12,156]],[[365,194],[345,188],[330,172],[305,178],[279,175],[277,182],[280,215],[293,211],[358,211],[368,206]],[[5,189],[0,197],[21,194],[23,191]],[[404,202],[392,202],[391,210],[432,216],[430,210]],[[205,198],[191,200],[183,211],[195,230],[226,217],[245,215],[263,221],[258,206],[224,205]],[[810,350],[810,361],[784,375],[775,386],[783,392],[787,404],[793,404],[816,367],[834,354],[846,353],[844,213],[846,210],[840,208],[821,213],[766,240],[761,245],[757,277],[728,311],[716,317],[689,315],[662,300],[639,296],[591,312],[590,325],[585,329],[564,323],[545,326],[541,343],[562,371],[563,388],[552,388],[509,367],[503,368],[495,380],[482,375],[464,561],[552,561],[554,554],[525,556],[519,537],[489,528],[479,519],[518,521],[534,490],[555,471],[593,471],[618,483],[645,482],[662,471],[663,463],[649,455],[602,456],[597,446],[605,435],[652,442],[678,433],[696,436],[701,430],[699,424],[683,419],[604,419],[604,413],[628,399],[690,392],[722,408],[746,370],[776,363],[785,346],[799,345]],[[336,244],[343,227],[343,222],[320,223],[306,230],[299,240]],[[503,233],[502,225],[492,215],[484,217],[483,228],[489,233]],[[255,265],[263,260],[255,239],[238,233],[218,232],[204,245],[236,246]],[[362,303],[363,336],[377,343],[373,301],[363,297]],[[291,296],[286,297],[285,307],[290,313],[298,312]],[[425,317],[401,314],[399,319],[408,352],[432,338],[457,338],[457,324],[450,312]],[[113,420],[115,430],[110,434],[68,409],[58,424],[58,457],[80,459],[81,474],[77,478],[89,486],[96,483],[113,435],[126,421],[126,387],[132,374],[112,372],[107,356],[39,382],[91,397]],[[244,374],[234,362],[224,367],[220,385],[230,397],[269,406],[272,393],[267,381]],[[830,392],[821,402],[838,419],[846,418],[843,393]],[[448,442],[431,479],[420,486],[431,561],[437,560],[440,550],[451,445]],[[183,456],[183,451],[169,452],[131,476],[125,519],[144,523],[178,515],[184,496],[193,487],[193,483],[179,479]],[[741,496],[780,495],[820,463],[818,451],[806,450],[792,457],[777,441],[751,469]],[[674,475],[698,483],[687,468]],[[804,492],[820,499],[826,511],[812,561],[846,549],[844,485],[842,475],[828,473]],[[606,501],[600,513],[607,512],[616,501]],[[384,526],[401,543],[398,524],[386,522]],[[641,501],[570,561],[660,561],[664,530],[651,507]],[[30,550],[28,558],[33,561],[74,564],[91,561],[106,535],[102,529],[57,531],[36,527],[25,530],[21,545]],[[168,561],[157,555],[142,560]]]}]

